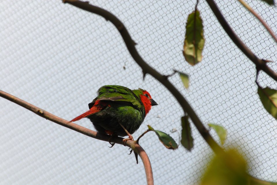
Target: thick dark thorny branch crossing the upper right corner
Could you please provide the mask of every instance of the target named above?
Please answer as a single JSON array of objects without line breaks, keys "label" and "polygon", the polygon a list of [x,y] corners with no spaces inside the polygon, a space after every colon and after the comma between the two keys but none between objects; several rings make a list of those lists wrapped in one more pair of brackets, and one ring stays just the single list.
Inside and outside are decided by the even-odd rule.
[{"label": "thick dark thorny branch crossing the upper right corner", "polygon": [[270,69],[264,60],[257,58],[257,56],[252,53],[252,51],[239,39],[239,37],[233,32],[225,18],[220,12],[220,9],[216,5],[213,0],[206,0],[209,6],[211,7],[212,11],[214,12],[216,18],[218,19],[219,23],[225,30],[225,32],[229,35],[232,41],[237,45],[237,47],[256,65],[256,67],[260,70],[263,70],[267,75],[272,77],[275,81],[277,81],[277,73]]}]

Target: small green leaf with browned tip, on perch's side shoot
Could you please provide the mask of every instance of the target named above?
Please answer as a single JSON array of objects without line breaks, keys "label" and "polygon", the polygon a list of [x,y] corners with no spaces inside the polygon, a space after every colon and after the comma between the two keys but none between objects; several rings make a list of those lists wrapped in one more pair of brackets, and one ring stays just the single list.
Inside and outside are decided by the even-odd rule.
[{"label": "small green leaf with browned tip, on perch's side shoot", "polygon": [[171,136],[169,136],[168,134],[166,134],[166,133],[164,133],[162,131],[155,130],[150,125],[147,125],[147,126],[148,126],[149,130],[154,131],[156,133],[156,135],[158,136],[160,142],[162,142],[162,144],[166,148],[173,149],[173,150],[178,148],[177,143],[174,141],[174,139]]}]

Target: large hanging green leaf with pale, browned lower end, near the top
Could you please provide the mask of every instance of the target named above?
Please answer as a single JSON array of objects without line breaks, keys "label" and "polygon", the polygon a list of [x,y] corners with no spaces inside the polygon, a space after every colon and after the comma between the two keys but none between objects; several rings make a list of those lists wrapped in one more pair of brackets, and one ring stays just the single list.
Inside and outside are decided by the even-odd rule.
[{"label": "large hanging green leaf with pale, browned lower end, near the top", "polygon": [[203,58],[202,50],[205,39],[203,36],[203,24],[199,14],[197,10],[196,12],[192,12],[188,16],[186,25],[183,55],[191,65],[197,64]]}]

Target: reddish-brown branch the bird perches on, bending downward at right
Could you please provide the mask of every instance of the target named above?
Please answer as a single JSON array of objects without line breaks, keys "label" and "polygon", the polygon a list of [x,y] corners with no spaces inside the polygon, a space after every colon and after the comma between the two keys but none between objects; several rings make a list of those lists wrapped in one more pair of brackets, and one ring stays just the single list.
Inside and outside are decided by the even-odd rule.
[{"label": "reddish-brown branch the bird perches on, bending downward at right", "polygon": [[[102,141],[108,141],[110,136],[105,135],[105,134],[100,134],[96,131],[92,131],[90,129],[87,129],[85,127],[82,127],[80,125],[77,125],[75,123],[66,121],[65,119],[62,119],[60,117],[57,117],[41,108],[38,108],[28,102],[25,102],[24,100],[21,100],[15,96],[12,96],[11,94],[8,94],[4,91],[0,90],[0,97],[3,97],[7,100],[10,100],[11,102],[14,102],[32,112],[34,112],[35,114],[48,119],[54,123],[57,123],[61,126],[70,128],[72,130],[75,130],[77,132],[80,132],[82,134],[85,134],[86,136],[98,139],[98,140],[102,140]],[[117,143],[117,144],[122,144],[123,145],[123,138],[120,137],[113,137],[111,139],[111,142]],[[151,163],[149,161],[149,158],[146,154],[146,152],[143,150],[143,148],[141,146],[139,146],[139,144],[137,144],[134,141],[128,140],[126,142],[126,145],[129,146],[130,148],[132,148],[132,150],[134,150],[136,153],[139,154],[139,156],[141,157],[141,160],[143,162],[144,168],[145,168],[145,174],[146,174],[146,180],[147,180],[147,184],[148,185],[153,185],[154,184],[154,180],[153,180],[153,172],[152,172],[152,168],[151,168]]]}]

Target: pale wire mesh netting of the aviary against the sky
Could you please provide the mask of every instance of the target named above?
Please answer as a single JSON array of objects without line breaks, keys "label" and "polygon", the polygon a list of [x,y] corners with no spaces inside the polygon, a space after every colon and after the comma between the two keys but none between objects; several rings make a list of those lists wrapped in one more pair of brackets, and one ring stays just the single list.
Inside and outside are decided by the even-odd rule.
[{"label": "pale wire mesh netting of the aviary against the sky", "polygon": [[[263,108],[255,66],[232,43],[200,0],[204,24],[203,61],[195,66],[182,55],[185,26],[196,1],[90,1],[116,15],[137,43],[139,54],[160,73],[190,75],[184,89],[177,74],[170,81],[184,94],[205,126],[223,125],[224,147],[234,146],[250,175],[277,181],[276,120]],[[260,58],[277,70],[276,43],[236,1],[216,1],[233,30]],[[276,32],[276,8],[248,1]],[[178,141],[184,112],[169,91],[142,70],[115,27],[104,18],[61,1],[1,1],[0,87],[14,96],[71,120],[88,110],[102,85],[147,89],[158,106],[147,124]],[[261,85],[276,82],[261,73]],[[0,184],[145,184],[142,161],[127,147],[89,138],[0,98]],[[94,129],[88,119],[76,122]],[[171,132],[172,130],[176,132]],[[212,136],[219,141],[216,133]],[[156,184],[197,184],[212,151],[192,125],[194,148],[166,149],[154,133],[140,141],[149,155]]]}]

